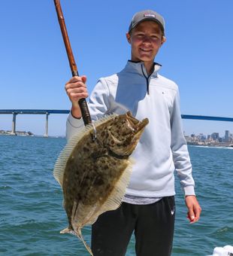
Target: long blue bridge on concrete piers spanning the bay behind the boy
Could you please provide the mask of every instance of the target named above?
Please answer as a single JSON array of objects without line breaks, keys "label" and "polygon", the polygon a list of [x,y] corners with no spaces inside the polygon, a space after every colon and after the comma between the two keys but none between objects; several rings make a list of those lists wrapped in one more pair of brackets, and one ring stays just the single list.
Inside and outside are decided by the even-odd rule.
[{"label": "long blue bridge on concrete piers spanning the bay behind the boy", "polygon": [[[48,120],[49,114],[68,114],[69,110],[56,110],[56,109],[0,109],[0,114],[13,114],[12,130],[11,134],[16,134],[16,117],[17,114],[45,114],[45,133],[44,136],[48,136]],[[217,120],[233,122],[233,117],[213,117],[205,115],[193,115],[193,114],[181,114],[183,119],[195,119],[195,120]]]}]

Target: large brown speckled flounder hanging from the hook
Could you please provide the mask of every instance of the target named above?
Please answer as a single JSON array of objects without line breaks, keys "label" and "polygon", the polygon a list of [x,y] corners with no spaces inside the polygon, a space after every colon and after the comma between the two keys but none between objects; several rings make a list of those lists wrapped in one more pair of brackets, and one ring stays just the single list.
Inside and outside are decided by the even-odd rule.
[{"label": "large brown speckled flounder hanging from the hook", "polygon": [[130,112],[103,117],[95,121],[95,130],[88,125],[74,135],[56,161],[53,174],[62,187],[68,216],[68,228],[61,233],[78,236],[90,254],[81,229],[122,203],[132,172],[129,156],[148,122]]}]

